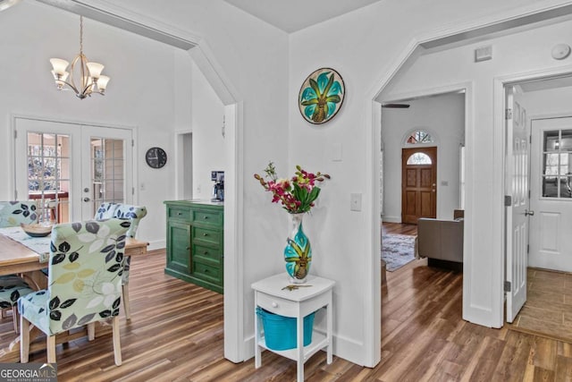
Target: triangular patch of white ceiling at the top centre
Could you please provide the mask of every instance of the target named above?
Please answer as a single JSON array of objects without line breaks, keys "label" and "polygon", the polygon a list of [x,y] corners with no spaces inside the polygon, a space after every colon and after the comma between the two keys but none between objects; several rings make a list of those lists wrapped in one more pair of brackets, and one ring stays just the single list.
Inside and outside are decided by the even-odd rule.
[{"label": "triangular patch of white ceiling at the top centre", "polygon": [[383,0],[224,0],[288,33]]}]

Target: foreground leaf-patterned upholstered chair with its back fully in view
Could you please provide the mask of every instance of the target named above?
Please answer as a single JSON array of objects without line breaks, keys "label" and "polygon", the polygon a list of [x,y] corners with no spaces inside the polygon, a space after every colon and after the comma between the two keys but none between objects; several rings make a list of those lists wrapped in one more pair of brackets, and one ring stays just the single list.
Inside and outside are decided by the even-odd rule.
[{"label": "foreground leaf-patterned upholstered chair with its back fully in view", "polygon": [[55,225],[48,287],[21,297],[21,362],[29,358],[29,324],[47,336],[47,361],[55,362],[55,335],[112,318],[115,364],[121,365],[119,308],[123,250],[130,222],[120,219]]}]

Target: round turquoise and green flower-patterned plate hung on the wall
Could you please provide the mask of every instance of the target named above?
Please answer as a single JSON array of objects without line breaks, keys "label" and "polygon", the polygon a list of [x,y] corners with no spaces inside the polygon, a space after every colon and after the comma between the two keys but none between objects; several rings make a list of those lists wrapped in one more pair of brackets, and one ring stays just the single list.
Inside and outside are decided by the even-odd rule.
[{"label": "round turquoise and green flower-patterned plate hung on the wall", "polygon": [[339,72],[318,69],[302,83],[298,96],[300,113],[309,123],[326,123],[340,111],[345,93]]}]

